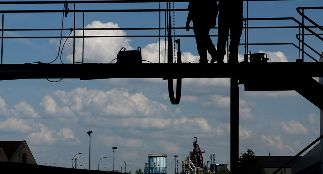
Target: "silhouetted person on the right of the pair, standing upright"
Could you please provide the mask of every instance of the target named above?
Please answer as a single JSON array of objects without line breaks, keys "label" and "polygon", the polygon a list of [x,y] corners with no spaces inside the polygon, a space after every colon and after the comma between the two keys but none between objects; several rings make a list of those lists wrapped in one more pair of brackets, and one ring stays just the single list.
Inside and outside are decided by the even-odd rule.
[{"label": "silhouetted person on the right of the pair, standing upright", "polygon": [[[218,17],[218,57],[217,62],[223,62],[225,44],[230,30],[229,62],[238,62],[238,47],[243,27],[243,1],[220,0]],[[214,60],[211,60],[213,63]]]}]

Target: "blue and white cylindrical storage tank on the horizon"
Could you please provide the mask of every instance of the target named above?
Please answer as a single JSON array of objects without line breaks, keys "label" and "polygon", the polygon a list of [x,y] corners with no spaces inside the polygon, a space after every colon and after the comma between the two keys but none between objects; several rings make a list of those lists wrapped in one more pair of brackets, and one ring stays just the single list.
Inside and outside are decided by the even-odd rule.
[{"label": "blue and white cylindrical storage tank on the horizon", "polygon": [[167,154],[148,154],[148,174],[167,174]]}]

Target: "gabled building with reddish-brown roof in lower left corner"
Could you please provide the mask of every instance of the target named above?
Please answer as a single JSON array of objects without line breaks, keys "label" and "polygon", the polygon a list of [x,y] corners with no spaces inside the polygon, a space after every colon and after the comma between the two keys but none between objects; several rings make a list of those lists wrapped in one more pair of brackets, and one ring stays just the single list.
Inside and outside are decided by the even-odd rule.
[{"label": "gabled building with reddish-brown roof in lower left corner", "polygon": [[25,140],[0,141],[0,162],[37,164]]}]

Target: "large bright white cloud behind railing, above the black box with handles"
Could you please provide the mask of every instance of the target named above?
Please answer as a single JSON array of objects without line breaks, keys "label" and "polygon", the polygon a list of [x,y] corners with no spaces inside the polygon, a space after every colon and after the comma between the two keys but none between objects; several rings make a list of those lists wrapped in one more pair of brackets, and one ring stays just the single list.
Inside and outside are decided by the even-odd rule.
[{"label": "large bright white cloud behind railing, above the black box with handles", "polygon": [[[101,23],[100,21],[93,21],[88,24],[86,29],[91,28],[115,28],[119,29],[117,23]],[[73,36],[73,33],[71,34]],[[76,36],[82,36],[83,31],[76,31]],[[125,36],[126,32],[123,30],[85,30],[84,36],[103,36],[99,38],[85,38],[84,39],[84,60],[85,62],[95,63],[110,63],[117,58],[117,54],[122,47],[126,50],[133,50],[130,47],[131,40],[125,37],[104,37],[104,36]],[[75,39],[75,61],[82,61],[82,38]],[[73,62],[73,39],[68,39],[64,51],[67,51],[66,59]],[[63,51],[63,53],[64,53]]]}]

